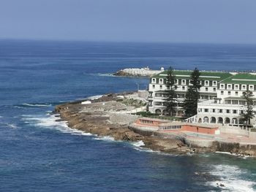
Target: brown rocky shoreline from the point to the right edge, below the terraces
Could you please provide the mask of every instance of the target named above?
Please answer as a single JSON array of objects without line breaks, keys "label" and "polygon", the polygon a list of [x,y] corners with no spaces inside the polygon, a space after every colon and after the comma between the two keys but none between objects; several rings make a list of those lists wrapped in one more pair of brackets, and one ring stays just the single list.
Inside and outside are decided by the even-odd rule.
[{"label": "brown rocky shoreline from the point to the right edge, below the terraces", "polygon": [[[210,153],[228,152],[236,155],[256,155],[254,145],[239,145],[239,143],[213,142],[211,147],[200,147],[189,145],[186,139],[166,137],[150,131],[141,131],[132,128],[126,120],[113,120],[113,116],[119,114],[123,109],[131,107],[124,102],[124,94],[109,94],[99,99],[94,99],[86,104],[82,101],[74,101],[57,105],[55,113],[59,114],[61,120],[67,121],[69,128],[75,128],[86,133],[97,134],[101,137],[113,137],[115,140],[128,142],[143,142],[142,147],[159,151],[162,153],[187,154],[187,153]],[[125,103],[125,104],[124,104]],[[131,115],[132,118],[137,118]],[[126,116],[124,116],[126,118]],[[130,118],[130,116],[128,116]]]}]

